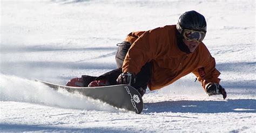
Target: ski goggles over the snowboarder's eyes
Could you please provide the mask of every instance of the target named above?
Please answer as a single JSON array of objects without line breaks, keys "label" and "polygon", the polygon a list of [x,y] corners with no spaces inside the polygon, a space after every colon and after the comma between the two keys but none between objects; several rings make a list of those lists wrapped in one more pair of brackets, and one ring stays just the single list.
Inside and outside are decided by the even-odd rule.
[{"label": "ski goggles over the snowboarder's eyes", "polygon": [[205,38],[205,32],[194,31],[192,29],[185,29],[183,32],[183,36],[187,41],[196,40],[197,42],[201,42]]}]

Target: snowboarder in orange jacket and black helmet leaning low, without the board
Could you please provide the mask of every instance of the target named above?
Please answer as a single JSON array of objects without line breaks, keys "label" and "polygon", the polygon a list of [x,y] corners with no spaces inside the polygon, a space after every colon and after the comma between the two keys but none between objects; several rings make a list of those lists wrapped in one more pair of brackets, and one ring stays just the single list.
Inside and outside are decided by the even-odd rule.
[{"label": "snowboarder in orange jacket and black helmet leaning low, without the board", "polygon": [[132,32],[118,44],[117,69],[99,77],[73,78],[66,86],[127,84],[143,95],[147,86],[151,91],[158,90],[192,72],[208,95],[222,94],[225,99],[220,72],[202,42],[206,27],[203,15],[187,11],[176,25]]}]

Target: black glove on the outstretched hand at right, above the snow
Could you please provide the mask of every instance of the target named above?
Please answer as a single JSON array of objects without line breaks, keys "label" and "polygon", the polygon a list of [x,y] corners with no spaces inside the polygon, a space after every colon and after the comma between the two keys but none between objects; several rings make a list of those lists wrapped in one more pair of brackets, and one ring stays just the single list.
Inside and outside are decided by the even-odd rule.
[{"label": "black glove on the outstretched hand at right, above the snow", "polygon": [[224,99],[227,97],[227,93],[225,91],[225,88],[223,88],[221,85],[219,85],[217,83],[208,83],[206,85],[206,93],[209,96],[222,94]]}]

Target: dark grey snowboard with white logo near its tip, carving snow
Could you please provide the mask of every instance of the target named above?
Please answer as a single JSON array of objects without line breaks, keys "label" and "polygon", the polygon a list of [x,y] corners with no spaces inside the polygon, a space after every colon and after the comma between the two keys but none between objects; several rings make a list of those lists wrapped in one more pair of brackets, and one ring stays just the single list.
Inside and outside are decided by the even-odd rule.
[{"label": "dark grey snowboard with white logo near its tip, carving snow", "polygon": [[143,100],[140,93],[129,85],[112,85],[101,87],[71,87],[52,84],[42,80],[35,79],[36,82],[43,83],[53,90],[64,89],[70,93],[79,92],[93,99],[99,99],[107,104],[130,110],[140,114],[143,110]]}]

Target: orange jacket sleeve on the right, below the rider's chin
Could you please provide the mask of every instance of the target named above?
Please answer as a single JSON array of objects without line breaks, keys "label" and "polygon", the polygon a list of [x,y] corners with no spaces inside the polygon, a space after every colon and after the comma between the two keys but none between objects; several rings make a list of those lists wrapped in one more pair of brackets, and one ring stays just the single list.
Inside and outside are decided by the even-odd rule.
[{"label": "orange jacket sleeve on the right, below the rider's chin", "polygon": [[220,79],[218,78],[220,72],[215,68],[215,59],[211,56],[207,48],[203,53],[204,55],[201,55],[201,57],[204,57],[203,67],[194,70],[193,73],[197,76],[198,81],[201,82],[201,85],[206,91],[206,85],[208,83],[220,83]]}]

